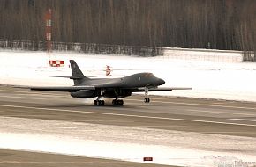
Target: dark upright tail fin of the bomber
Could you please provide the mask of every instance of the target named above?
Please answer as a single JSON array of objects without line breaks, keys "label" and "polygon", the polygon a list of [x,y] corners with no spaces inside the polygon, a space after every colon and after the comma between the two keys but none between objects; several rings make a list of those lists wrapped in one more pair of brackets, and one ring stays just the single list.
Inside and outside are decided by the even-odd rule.
[{"label": "dark upright tail fin of the bomber", "polygon": [[74,60],[70,60],[70,63],[72,68],[72,77],[70,78],[74,80],[75,85],[81,84],[83,81],[89,79],[88,77],[84,76],[81,69],[79,69],[78,64]]}]

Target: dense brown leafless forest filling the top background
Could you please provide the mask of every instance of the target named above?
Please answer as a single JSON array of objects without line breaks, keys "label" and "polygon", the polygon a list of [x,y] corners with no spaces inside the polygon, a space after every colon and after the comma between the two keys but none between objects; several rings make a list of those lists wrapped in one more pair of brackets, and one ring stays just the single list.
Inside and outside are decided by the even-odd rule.
[{"label": "dense brown leafless forest filling the top background", "polygon": [[0,39],[256,50],[255,0],[0,0]]}]

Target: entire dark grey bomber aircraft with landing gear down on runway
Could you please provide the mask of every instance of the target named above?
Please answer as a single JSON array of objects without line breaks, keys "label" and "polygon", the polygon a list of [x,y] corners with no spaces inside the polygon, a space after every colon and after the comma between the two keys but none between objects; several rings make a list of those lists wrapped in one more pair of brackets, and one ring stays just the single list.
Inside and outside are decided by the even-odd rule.
[{"label": "entire dark grey bomber aircraft with landing gear down on runway", "polygon": [[[124,101],[119,98],[125,98],[132,95],[132,92],[148,91],[172,91],[172,90],[190,90],[191,88],[161,88],[158,87],[165,83],[164,80],[154,76],[152,73],[137,73],[131,76],[121,78],[89,78],[84,76],[77,63],[70,60],[73,86],[43,86],[31,87],[34,91],[68,91],[73,98],[95,98],[94,105],[104,105],[101,98],[114,98],[112,105],[124,105]],[[145,98],[145,103],[150,99]]]}]

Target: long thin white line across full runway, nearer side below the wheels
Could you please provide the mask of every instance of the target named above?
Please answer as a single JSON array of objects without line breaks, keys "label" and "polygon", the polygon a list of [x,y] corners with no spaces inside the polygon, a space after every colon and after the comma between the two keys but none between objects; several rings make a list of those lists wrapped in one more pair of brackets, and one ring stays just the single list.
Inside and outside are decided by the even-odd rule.
[{"label": "long thin white line across full runway, nearer side below the wheels", "polygon": [[181,120],[181,121],[192,121],[192,122],[203,122],[203,123],[215,123],[215,124],[225,124],[225,125],[256,127],[256,125],[252,125],[252,124],[235,123],[235,122],[222,122],[222,121],[214,121],[214,120],[177,119],[177,118],[154,117],[154,116],[145,116],[145,115],[132,115],[132,114],[129,115],[129,114],[124,114],[124,113],[99,113],[99,112],[88,112],[88,111],[66,110],[66,109],[54,109],[54,108],[40,108],[40,107],[19,106],[19,105],[0,105],[0,106],[13,107],[13,108],[35,109],[35,110],[60,111],[60,112],[63,111],[63,112],[70,112],[70,113],[91,113],[91,114],[114,115],[114,116],[146,118],[146,119]]}]

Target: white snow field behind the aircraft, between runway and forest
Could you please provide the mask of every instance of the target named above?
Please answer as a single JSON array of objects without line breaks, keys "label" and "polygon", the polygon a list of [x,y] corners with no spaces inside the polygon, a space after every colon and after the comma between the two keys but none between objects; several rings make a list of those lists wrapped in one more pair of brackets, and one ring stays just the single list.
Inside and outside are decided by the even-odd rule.
[{"label": "white snow field behind the aircraft, between runway and forest", "polygon": [[[227,55],[228,56],[228,55]],[[136,57],[52,53],[51,59],[64,60],[65,68],[49,68],[49,55],[43,52],[0,52],[0,84],[72,85],[64,78],[42,75],[71,76],[68,61],[74,59],[86,76],[105,76],[106,65],[113,69],[111,77],[136,72],[153,72],[171,87],[192,87],[192,91],[154,92],[167,96],[219,98],[256,101],[255,62],[207,62],[170,59],[169,56]]]}]

